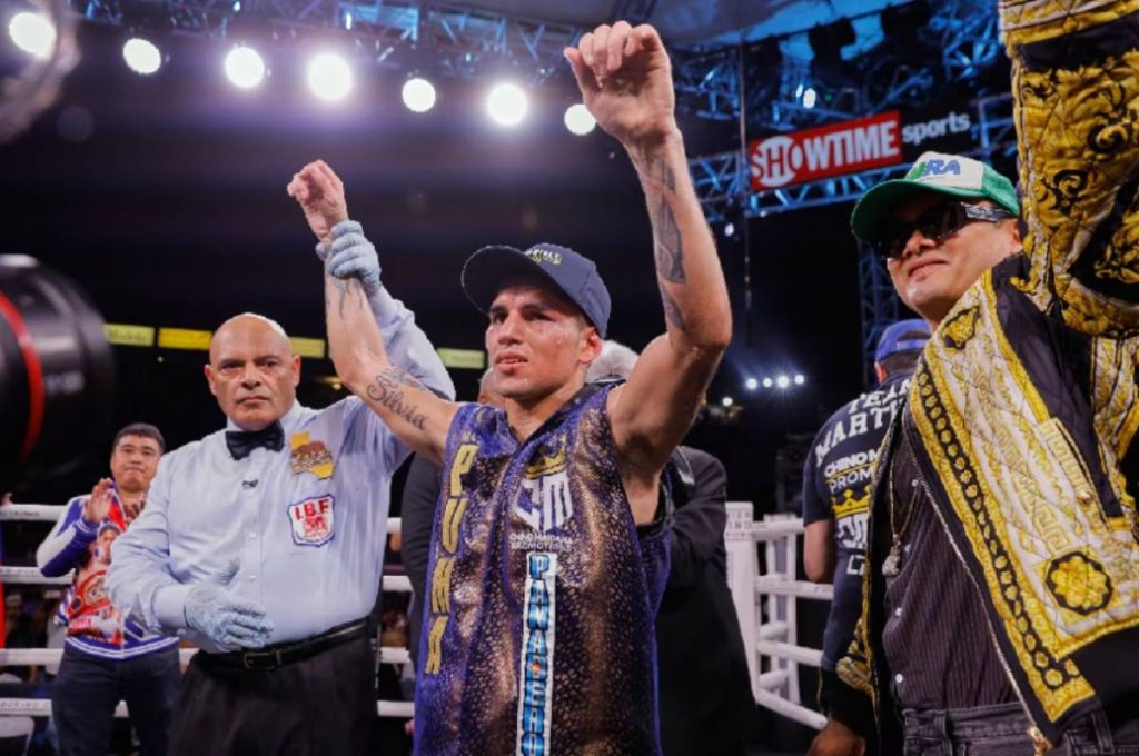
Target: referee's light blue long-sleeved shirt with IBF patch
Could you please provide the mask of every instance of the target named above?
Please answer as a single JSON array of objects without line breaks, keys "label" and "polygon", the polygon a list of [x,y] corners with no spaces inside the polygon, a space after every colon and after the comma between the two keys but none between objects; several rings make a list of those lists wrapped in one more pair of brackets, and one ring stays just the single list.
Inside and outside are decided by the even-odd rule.
[{"label": "referee's light blue long-sleeved shirt with IBF patch", "polygon": [[[411,313],[390,297],[382,312],[390,313],[382,330],[392,362],[453,396]],[[265,607],[271,643],[371,611],[391,478],[408,449],[355,396],[323,410],[294,403],[280,422],[279,452],[259,447],[233,460],[219,430],[163,455],[146,508],[112,553],[107,589],[124,615],[207,651],[230,650],[187,628],[183,609],[196,583],[235,561],[230,585]],[[331,475],[321,477],[329,457]]]}]

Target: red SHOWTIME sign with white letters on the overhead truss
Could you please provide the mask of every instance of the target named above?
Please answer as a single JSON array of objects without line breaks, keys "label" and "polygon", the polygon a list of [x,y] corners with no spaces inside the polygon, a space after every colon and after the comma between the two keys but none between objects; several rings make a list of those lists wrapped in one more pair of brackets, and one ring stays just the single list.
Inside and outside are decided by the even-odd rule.
[{"label": "red SHOWTIME sign with white letters on the overhead truss", "polygon": [[896,110],[748,145],[752,189],[763,191],[902,161]]}]

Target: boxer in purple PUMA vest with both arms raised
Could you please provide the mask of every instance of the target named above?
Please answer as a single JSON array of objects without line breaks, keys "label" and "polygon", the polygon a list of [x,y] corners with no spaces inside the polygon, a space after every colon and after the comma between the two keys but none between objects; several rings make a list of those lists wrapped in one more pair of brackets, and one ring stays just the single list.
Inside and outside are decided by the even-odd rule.
[{"label": "boxer in purple PUMA vest with both arms raised", "polygon": [[731,312],[661,38],[603,25],[566,57],[585,106],[632,158],[653,222],[667,332],[626,384],[585,384],[609,295],[593,263],[564,247],[486,247],[464,268],[467,296],[490,315],[505,411],[445,402],[393,368],[357,281],[326,277],[344,383],[443,463],[416,681],[416,750],[432,756],[659,753],[661,475],[727,348]]}]

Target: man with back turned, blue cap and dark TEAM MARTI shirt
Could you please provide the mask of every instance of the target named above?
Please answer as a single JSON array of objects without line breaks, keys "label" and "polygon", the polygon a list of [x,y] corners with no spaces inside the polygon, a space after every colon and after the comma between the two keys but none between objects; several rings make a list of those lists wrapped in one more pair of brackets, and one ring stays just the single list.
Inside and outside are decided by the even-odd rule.
[{"label": "man with back turned, blue cap and dark TEAM MARTI shirt", "polygon": [[[862,606],[870,471],[927,340],[929,326],[924,320],[887,326],[874,353],[878,387],[835,411],[808,451],[803,466],[803,567],[816,583],[834,584],[822,634],[819,668],[823,676],[834,676],[854,635]],[[830,685],[821,688],[827,690]],[[822,706],[827,708],[826,701]]]}]

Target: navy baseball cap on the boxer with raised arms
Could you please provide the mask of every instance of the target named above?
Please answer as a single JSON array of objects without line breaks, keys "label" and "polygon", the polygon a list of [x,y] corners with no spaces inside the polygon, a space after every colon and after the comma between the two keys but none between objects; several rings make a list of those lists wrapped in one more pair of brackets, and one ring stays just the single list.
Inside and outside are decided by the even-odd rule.
[{"label": "navy baseball cap on the boxer with raised arms", "polygon": [[593,261],[556,244],[526,250],[505,245],[483,247],[462,266],[462,290],[476,307],[490,312],[494,297],[510,279],[530,277],[552,284],[585,315],[601,338],[609,323],[609,290]]}]

